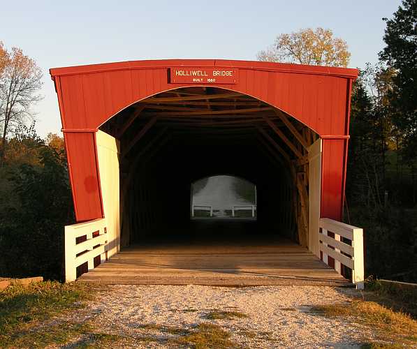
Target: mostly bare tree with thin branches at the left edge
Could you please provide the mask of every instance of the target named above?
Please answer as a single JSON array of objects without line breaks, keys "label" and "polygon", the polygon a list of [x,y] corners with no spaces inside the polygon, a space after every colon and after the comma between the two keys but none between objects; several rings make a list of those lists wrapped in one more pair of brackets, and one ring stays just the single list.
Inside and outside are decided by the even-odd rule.
[{"label": "mostly bare tree with thin branches at the left edge", "polygon": [[[0,46],[3,70],[0,71],[0,165],[3,163],[7,136],[13,126],[32,117],[31,105],[41,99],[42,71],[36,62],[17,47],[8,52]],[[3,52],[3,53],[1,53]]]}]

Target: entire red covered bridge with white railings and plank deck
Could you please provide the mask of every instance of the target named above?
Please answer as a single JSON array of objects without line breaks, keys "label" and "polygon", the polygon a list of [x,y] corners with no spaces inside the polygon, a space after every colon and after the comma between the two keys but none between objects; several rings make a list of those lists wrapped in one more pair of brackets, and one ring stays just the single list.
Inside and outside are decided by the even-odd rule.
[{"label": "entire red covered bridge with white railings and plank deck", "polygon": [[[362,230],[339,222],[356,69],[175,59],[50,73],[78,221],[67,281],[363,285]],[[191,184],[214,174],[256,185],[255,221],[191,217]]]}]

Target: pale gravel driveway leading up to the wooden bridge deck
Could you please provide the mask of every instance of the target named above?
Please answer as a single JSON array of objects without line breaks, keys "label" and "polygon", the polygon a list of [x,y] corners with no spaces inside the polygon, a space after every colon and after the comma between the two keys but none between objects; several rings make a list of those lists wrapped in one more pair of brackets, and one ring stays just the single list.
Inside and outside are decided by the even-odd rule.
[{"label": "pale gravel driveway leading up to the wooden bridge deck", "polygon": [[[360,348],[372,339],[370,329],[311,311],[359,295],[319,286],[110,285],[86,313],[102,332],[138,339],[129,344],[136,348],[173,348],[167,339],[178,334],[164,329],[193,329],[203,322],[221,326],[237,348]],[[212,311],[241,317],[207,319]],[[141,341],[144,336],[153,339]]]}]

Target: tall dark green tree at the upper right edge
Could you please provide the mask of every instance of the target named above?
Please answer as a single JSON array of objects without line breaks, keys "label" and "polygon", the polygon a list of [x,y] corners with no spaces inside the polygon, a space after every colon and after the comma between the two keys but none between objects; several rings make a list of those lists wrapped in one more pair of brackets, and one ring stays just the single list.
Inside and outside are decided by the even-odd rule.
[{"label": "tall dark green tree at the upper right edge", "polygon": [[393,18],[383,20],[386,47],[379,58],[395,70],[390,109],[404,138],[403,154],[413,168],[417,160],[417,0],[403,0]]}]

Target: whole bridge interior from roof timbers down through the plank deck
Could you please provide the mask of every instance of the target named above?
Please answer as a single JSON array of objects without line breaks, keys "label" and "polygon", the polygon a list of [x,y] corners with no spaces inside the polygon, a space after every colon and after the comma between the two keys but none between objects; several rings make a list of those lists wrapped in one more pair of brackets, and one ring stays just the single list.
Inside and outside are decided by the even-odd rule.
[{"label": "whole bridge interior from roof timbers down through the plank deck", "polygon": [[[318,136],[288,114],[233,91],[186,87],[135,103],[100,129],[120,141],[122,252],[82,280],[345,282],[307,250],[307,149]],[[215,174],[256,185],[256,220],[191,219],[191,184]]]}]

